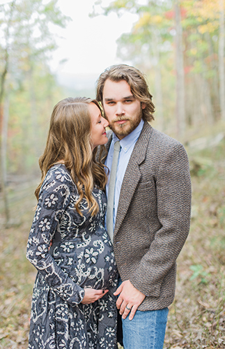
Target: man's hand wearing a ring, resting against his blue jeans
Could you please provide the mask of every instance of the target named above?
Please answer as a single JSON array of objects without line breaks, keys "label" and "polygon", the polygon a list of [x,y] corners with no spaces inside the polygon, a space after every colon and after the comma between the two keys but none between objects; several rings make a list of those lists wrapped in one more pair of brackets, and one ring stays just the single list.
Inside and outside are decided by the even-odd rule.
[{"label": "man's hand wearing a ring, resting against his blue jeans", "polygon": [[129,320],[134,318],[134,314],[136,313],[139,305],[146,297],[143,295],[143,293],[137,290],[137,288],[134,288],[130,280],[123,281],[116,292],[114,292],[114,295],[119,295],[116,306],[117,309],[120,309],[122,318],[125,319],[130,313]]}]

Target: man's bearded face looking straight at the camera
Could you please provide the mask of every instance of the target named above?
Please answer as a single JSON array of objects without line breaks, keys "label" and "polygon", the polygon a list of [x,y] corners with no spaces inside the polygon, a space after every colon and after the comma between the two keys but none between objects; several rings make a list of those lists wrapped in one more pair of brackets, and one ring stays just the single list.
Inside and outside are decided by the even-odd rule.
[{"label": "man's bearded face looking straight at the camera", "polygon": [[104,82],[102,100],[109,127],[118,139],[122,140],[139,125],[142,109],[146,105],[141,105],[140,101],[134,98],[125,80],[114,82],[107,79]]}]

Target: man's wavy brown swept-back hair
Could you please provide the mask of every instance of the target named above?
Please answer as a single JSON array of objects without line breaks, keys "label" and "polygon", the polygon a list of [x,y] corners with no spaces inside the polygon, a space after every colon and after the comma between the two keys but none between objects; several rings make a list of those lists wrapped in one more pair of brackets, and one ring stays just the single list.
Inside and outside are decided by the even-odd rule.
[{"label": "man's wavy brown swept-back hair", "polygon": [[130,86],[132,95],[141,103],[146,104],[146,107],[142,110],[143,121],[154,120],[153,113],[155,112],[155,105],[152,102],[153,96],[148,90],[148,84],[144,75],[137,68],[127,66],[127,64],[118,64],[104,70],[98,78],[96,88],[96,99],[100,101],[102,105],[104,82],[106,82],[107,79],[114,82],[125,80]]}]

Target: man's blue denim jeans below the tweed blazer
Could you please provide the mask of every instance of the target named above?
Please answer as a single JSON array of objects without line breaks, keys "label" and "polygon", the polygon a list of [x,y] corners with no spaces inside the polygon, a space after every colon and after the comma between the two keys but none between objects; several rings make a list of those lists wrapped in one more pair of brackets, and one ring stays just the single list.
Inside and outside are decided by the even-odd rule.
[{"label": "man's blue denim jeans below the tweed blazer", "polygon": [[136,311],[134,318],[129,315],[123,322],[124,349],[162,349],[166,332],[169,309]]}]

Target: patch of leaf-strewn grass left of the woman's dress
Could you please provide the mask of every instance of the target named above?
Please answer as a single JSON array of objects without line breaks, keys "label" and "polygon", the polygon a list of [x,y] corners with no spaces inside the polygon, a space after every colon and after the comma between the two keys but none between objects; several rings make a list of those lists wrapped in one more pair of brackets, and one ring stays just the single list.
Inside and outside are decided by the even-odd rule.
[{"label": "patch of leaf-strewn grass left of the woman's dress", "polygon": [[0,348],[27,348],[31,294],[36,270],[26,260],[33,211],[18,227],[1,230]]}]

